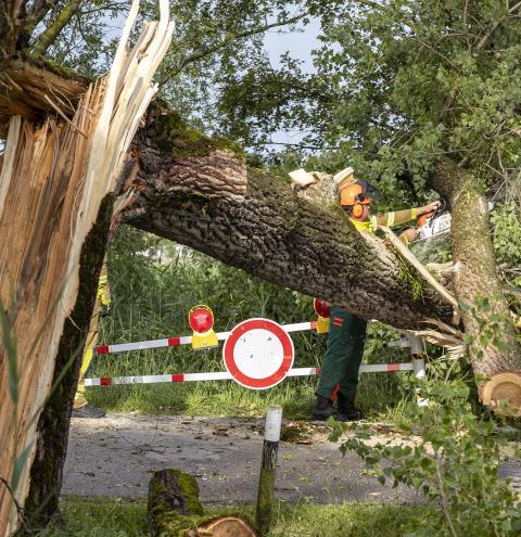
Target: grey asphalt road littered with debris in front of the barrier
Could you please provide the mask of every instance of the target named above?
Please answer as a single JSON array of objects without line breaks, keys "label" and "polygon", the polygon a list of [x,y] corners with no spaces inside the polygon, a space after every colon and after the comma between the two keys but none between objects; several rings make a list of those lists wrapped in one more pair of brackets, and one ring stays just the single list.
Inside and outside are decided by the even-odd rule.
[{"label": "grey asphalt road littered with debris in front of the barrier", "polygon": [[[228,418],[110,414],[99,420],[73,419],[62,494],[139,498],[147,495],[154,471],[177,468],[198,478],[205,503],[254,502],[262,430],[260,420]],[[364,475],[364,463],[356,455],[343,457],[339,445],[327,440],[327,425],[292,422],[287,431],[296,443],[280,443],[279,499],[416,501],[414,491],[382,487],[374,477]]]}]

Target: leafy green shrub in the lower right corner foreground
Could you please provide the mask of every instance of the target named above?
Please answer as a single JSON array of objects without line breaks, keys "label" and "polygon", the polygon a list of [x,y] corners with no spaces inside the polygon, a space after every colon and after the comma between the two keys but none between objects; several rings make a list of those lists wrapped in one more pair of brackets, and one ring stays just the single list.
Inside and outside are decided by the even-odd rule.
[{"label": "leafy green shrub in the lower right corner foreground", "polygon": [[344,453],[358,453],[382,484],[404,484],[424,496],[432,509],[409,521],[403,535],[519,535],[519,497],[498,473],[508,435],[518,432],[476,415],[469,387],[446,373],[419,383],[429,406],[407,405],[397,443],[369,443],[368,427],[345,423],[334,424],[332,439],[355,430],[342,444]]}]

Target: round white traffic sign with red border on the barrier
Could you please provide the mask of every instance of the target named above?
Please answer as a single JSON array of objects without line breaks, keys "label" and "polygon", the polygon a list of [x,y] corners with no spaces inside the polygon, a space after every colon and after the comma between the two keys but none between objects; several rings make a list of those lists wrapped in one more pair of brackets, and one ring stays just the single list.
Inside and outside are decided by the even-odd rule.
[{"label": "round white traffic sign with red border on the barrier", "polygon": [[281,382],[294,356],[288,332],[269,319],[239,323],[223,348],[226,369],[233,380],[252,389],[266,389]]}]

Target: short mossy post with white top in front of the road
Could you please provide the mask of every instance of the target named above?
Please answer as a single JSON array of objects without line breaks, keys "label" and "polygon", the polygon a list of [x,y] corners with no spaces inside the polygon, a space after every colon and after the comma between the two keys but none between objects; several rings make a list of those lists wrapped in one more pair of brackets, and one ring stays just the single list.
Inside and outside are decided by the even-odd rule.
[{"label": "short mossy post with white top in front of the road", "polygon": [[275,472],[279,451],[280,426],[282,423],[282,407],[268,407],[266,429],[264,431],[263,462],[258,480],[257,510],[255,523],[260,535],[269,532],[271,523],[271,506],[274,503]]}]

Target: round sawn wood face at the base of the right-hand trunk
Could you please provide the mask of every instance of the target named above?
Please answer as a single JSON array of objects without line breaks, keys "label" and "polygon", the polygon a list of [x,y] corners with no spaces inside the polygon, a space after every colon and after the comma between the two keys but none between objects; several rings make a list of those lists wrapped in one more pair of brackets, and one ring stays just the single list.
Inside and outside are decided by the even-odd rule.
[{"label": "round sawn wood face at the base of the right-hand trunk", "polygon": [[521,415],[521,372],[497,373],[481,386],[481,401],[504,415]]}]

